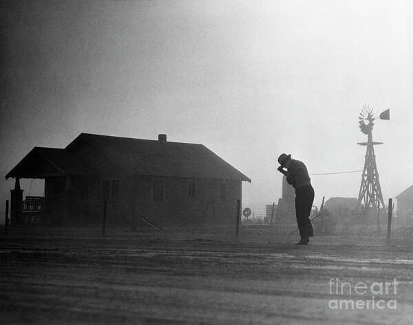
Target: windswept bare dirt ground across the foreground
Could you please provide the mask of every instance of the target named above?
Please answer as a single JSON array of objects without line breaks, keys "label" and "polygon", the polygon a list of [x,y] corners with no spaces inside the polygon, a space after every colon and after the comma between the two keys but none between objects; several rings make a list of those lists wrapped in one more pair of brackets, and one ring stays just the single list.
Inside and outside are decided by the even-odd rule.
[{"label": "windswept bare dirt ground across the foreground", "polygon": [[[412,228],[390,245],[364,229],[296,246],[288,230],[2,235],[0,323],[413,324]],[[354,292],[394,278],[396,294]],[[330,308],[373,296],[384,309]]]}]

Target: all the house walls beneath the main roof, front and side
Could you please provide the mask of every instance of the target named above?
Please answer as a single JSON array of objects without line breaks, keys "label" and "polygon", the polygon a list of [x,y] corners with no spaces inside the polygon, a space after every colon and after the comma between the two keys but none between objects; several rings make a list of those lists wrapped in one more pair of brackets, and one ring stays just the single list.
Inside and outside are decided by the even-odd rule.
[{"label": "all the house walls beneath the main roof, front and side", "polygon": [[[107,226],[142,225],[137,215],[159,227],[235,227],[237,199],[242,197],[241,181],[195,179],[184,177],[146,177],[136,175],[106,175],[105,177],[73,177],[74,200],[67,225],[99,224],[103,216],[103,179],[119,180],[119,199],[107,200]],[[152,198],[153,180],[164,181],[164,202]],[[45,196],[49,211],[61,221],[62,202],[52,199],[54,179],[45,180]],[[188,196],[188,182],[195,181],[195,197]],[[226,202],[220,202],[220,183],[227,184]],[[87,199],[82,198],[82,187],[87,186]],[[214,218],[215,214],[215,218]],[[234,228],[235,229],[235,228]]]}]

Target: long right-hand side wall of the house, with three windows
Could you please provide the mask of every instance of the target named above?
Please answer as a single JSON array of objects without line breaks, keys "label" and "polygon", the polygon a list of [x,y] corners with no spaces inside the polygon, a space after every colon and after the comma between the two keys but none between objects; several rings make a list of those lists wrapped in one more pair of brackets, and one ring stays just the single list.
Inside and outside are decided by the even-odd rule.
[{"label": "long right-hand side wall of the house, with three windows", "polygon": [[[165,201],[153,202],[152,181],[165,182]],[[195,197],[188,197],[188,182],[195,181]],[[220,202],[220,183],[227,184],[227,200]],[[203,227],[235,225],[237,199],[241,199],[241,181],[190,179],[178,177],[134,177],[135,210],[156,225]],[[215,220],[214,220],[215,212]]]}]

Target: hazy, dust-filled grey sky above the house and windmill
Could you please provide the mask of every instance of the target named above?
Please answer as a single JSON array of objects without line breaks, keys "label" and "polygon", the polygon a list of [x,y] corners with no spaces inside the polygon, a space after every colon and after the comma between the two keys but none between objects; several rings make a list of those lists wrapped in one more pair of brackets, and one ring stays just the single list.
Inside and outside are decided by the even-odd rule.
[{"label": "hazy, dust-filled grey sky above the house and windmill", "polygon": [[[412,15],[407,0],[1,1],[1,175],[81,132],[167,133],[250,177],[245,204],[277,203],[282,152],[310,173],[363,169],[369,103],[391,112],[373,131],[387,200],[413,184]],[[314,176],[315,204],[360,181]]]}]

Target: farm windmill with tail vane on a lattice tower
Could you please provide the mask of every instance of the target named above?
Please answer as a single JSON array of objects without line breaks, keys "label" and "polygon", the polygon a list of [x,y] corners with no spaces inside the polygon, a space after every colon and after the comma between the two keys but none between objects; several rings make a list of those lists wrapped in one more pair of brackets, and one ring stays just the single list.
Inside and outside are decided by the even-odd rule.
[{"label": "farm windmill with tail vane on a lattice tower", "polygon": [[[390,120],[390,110],[383,111],[379,118]],[[366,158],[364,160],[363,175],[359,191],[358,205],[363,204],[364,208],[377,208],[377,203],[384,206],[383,194],[381,194],[379,172],[377,172],[376,155],[374,155],[374,145],[383,142],[373,142],[372,130],[374,126],[373,110],[368,104],[363,105],[359,115],[359,128],[362,133],[367,135],[367,142],[358,142],[360,146],[366,146]]]}]

